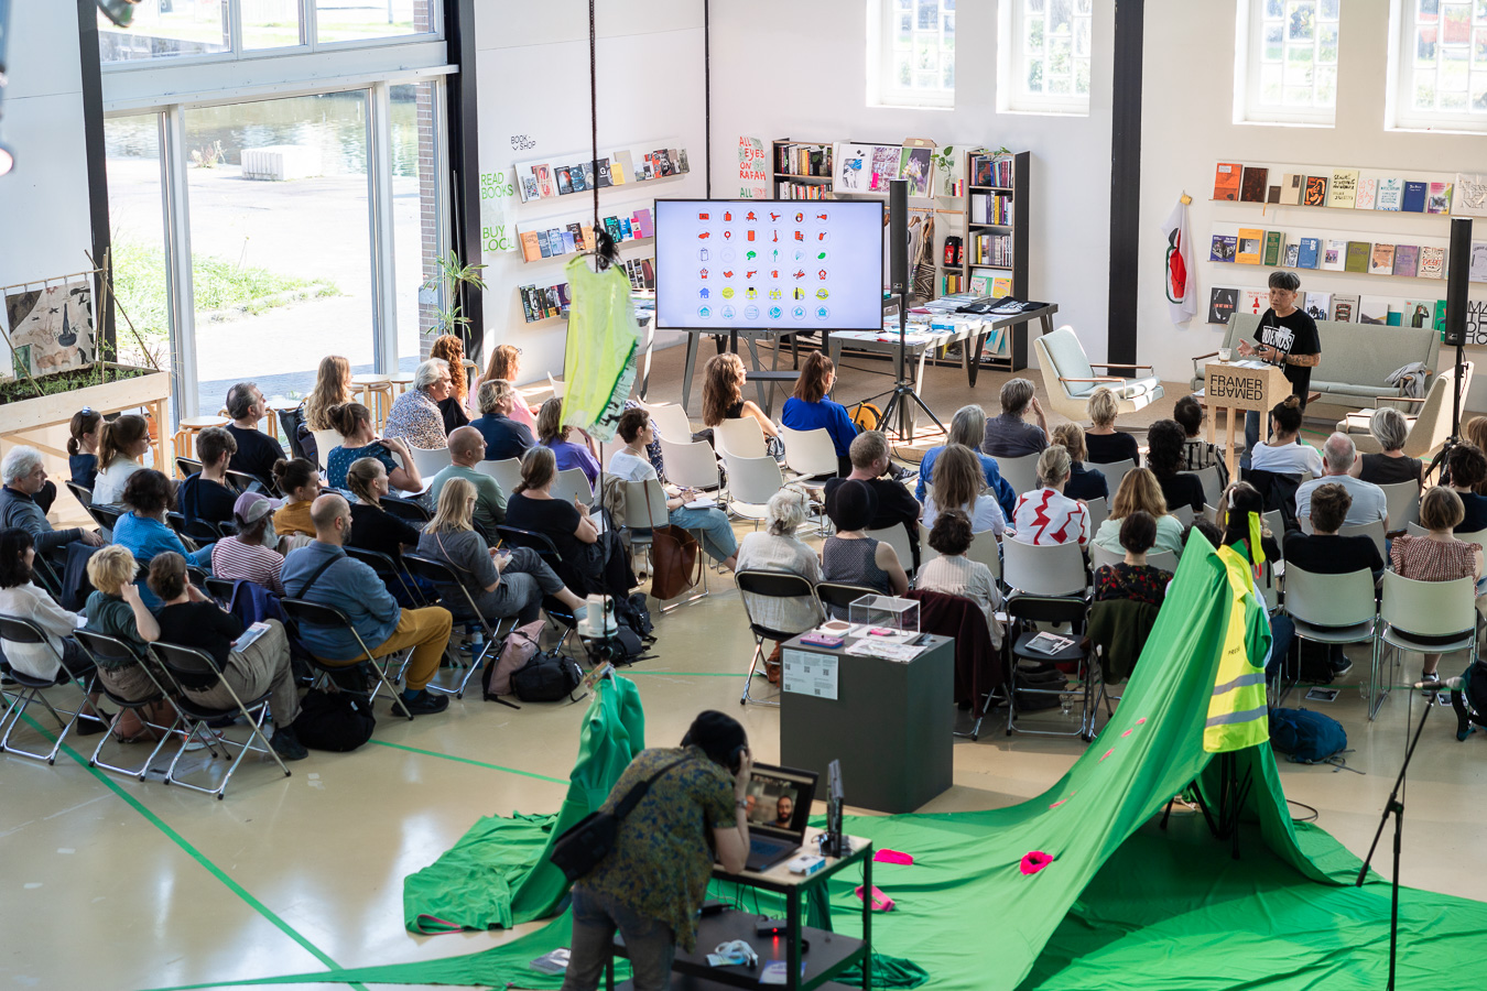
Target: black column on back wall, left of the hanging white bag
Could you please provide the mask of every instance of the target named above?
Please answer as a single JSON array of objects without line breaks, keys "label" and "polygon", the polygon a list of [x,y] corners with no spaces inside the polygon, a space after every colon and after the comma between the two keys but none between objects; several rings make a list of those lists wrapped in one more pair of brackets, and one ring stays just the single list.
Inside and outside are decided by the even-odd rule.
[{"label": "black column on back wall, left of the hanging white bag", "polygon": [[1111,92],[1109,361],[1136,357],[1136,279],[1141,260],[1141,59],[1144,0],[1115,1]]}]

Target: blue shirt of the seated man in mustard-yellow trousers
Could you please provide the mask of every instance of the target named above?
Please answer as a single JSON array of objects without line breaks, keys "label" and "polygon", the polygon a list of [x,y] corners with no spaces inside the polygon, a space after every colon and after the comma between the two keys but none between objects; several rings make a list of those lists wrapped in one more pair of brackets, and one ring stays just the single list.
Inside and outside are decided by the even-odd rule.
[{"label": "blue shirt of the seated man in mustard-yellow trousers", "polygon": [[[305,582],[327,559],[335,563],[321,572],[309,591],[305,591]],[[346,553],[335,544],[315,541],[290,551],[284,559],[280,581],[284,582],[284,594],[290,599],[336,606],[346,614],[369,649],[376,649],[393,636],[403,614],[376,572],[369,565],[346,557]],[[299,631],[311,654],[324,661],[349,661],[361,657],[357,639],[345,627],[315,627],[302,623]]]}]

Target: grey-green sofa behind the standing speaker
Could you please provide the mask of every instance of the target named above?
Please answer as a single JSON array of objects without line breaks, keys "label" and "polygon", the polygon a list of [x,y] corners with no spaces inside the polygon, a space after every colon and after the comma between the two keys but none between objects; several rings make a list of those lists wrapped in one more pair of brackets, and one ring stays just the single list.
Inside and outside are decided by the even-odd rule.
[{"label": "grey-green sofa behind the standing speaker", "polygon": [[[1259,316],[1234,313],[1228,318],[1224,343],[1219,348],[1234,348],[1239,342],[1255,340]],[[1370,407],[1380,397],[1405,395],[1399,386],[1389,385],[1395,368],[1419,361],[1425,365],[1426,380],[1419,392],[1425,395],[1435,377],[1435,360],[1441,351],[1441,331],[1430,327],[1389,327],[1384,324],[1343,324],[1335,319],[1316,321],[1316,333],[1322,340],[1322,361],[1312,368],[1312,391],[1320,392],[1317,403]],[[1203,388],[1203,360],[1193,358],[1193,391]]]}]

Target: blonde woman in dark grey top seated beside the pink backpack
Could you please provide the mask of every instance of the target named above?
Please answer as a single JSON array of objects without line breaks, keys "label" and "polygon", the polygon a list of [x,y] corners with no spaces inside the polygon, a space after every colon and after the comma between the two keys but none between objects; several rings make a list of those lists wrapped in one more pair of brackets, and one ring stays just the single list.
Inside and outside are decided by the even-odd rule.
[{"label": "blonde woman in dark grey top seated beside the pink backpack", "polygon": [[[439,492],[434,519],[418,538],[418,553],[449,565],[470,593],[476,609],[492,626],[507,617],[516,623],[531,623],[540,615],[543,597],[552,596],[572,611],[574,618],[587,612],[584,600],[564,585],[562,579],[528,547],[497,550],[471,523],[474,486],[465,478],[451,478]],[[464,596],[445,594],[443,605],[458,620]]]}]

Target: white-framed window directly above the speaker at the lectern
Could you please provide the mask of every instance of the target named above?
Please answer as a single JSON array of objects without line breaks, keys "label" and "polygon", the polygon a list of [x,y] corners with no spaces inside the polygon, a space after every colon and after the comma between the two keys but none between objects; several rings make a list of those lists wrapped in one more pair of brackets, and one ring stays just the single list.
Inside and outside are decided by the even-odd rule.
[{"label": "white-framed window directly above the speaker at the lectern", "polygon": [[1240,0],[1236,120],[1331,125],[1341,0]]}]

